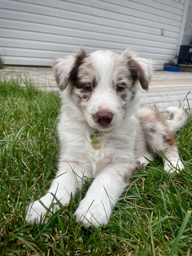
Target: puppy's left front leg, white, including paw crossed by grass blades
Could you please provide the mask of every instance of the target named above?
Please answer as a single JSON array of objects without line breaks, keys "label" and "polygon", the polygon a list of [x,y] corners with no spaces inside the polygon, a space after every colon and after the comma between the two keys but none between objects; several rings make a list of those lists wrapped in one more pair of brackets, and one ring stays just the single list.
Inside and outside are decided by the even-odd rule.
[{"label": "puppy's left front leg, white, including paw crossed by grass blades", "polygon": [[51,213],[58,210],[60,208],[59,203],[67,205],[71,194],[74,196],[77,187],[81,186],[82,176],[82,167],[79,163],[61,161],[57,176],[47,194],[28,206],[26,221],[34,223],[36,220],[36,223],[39,223],[41,218],[45,219],[45,216],[51,215]]}]

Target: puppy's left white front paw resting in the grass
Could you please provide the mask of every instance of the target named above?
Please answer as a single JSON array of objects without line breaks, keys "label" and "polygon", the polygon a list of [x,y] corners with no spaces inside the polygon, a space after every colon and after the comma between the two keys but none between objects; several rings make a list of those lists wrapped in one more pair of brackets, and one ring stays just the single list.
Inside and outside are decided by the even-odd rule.
[{"label": "puppy's left white front paw resting in the grass", "polygon": [[34,222],[40,223],[41,220],[45,220],[45,217],[50,216],[58,209],[59,206],[52,203],[51,197],[47,194],[28,206],[26,210],[26,222],[31,224]]}]

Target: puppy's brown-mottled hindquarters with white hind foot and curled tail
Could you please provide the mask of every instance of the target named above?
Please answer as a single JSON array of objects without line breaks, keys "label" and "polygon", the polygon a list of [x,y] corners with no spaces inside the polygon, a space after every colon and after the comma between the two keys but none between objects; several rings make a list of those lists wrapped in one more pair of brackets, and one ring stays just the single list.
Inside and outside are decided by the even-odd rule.
[{"label": "puppy's brown-mottled hindquarters with white hind foot and curled tail", "polygon": [[[145,143],[150,152],[163,152],[165,158],[160,154],[164,161],[164,170],[169,173],[183,169],[183,164],[179,158],[175,134],[173,131],[181,128],[186,120],[183,111],[178,111],[175,108],[169,109],[171,113],[175,112],[173,120],[167,120],[162,113],[142,107],[137,112],[141,127],[145,134]],[[184,118],[185,117],[185,118]]]}]

